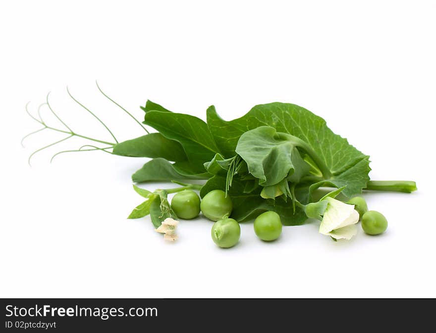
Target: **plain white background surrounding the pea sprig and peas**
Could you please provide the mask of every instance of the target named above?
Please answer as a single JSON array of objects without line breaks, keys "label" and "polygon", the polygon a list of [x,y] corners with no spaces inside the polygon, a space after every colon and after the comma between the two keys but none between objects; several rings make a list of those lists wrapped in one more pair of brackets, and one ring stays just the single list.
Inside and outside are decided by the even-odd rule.
[{"label": "plain white background surrounding the pea sprig and peas", "polygon": [[[3,1],[0,6],[0,296],[436,297],[435,1]],[[371,177],[415,180],[419,191],[367,193],[385,234],[332,242],[318,223],[285,227],[274,243],[252,223],[241,242],[215,246],[212,224],[182,221],[167,244],[130,175],[145,159],[103,152],[50,157],[86,142],[37,130],[51,91],[78,133],[119,140],[141,128],[146,99],[224,119],[272,101],[299,104],[371,156]],[[43,117],[56,123],[47,109]],[[166,186],[150,184],[154,189]],[[359,227],[360,229],[360,227]]]}]

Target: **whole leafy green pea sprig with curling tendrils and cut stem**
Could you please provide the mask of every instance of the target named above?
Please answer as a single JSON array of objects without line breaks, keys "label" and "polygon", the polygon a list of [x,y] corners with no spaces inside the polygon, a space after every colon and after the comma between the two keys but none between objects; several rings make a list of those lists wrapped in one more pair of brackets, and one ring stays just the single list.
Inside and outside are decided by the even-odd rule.
[{"label": "whole leafy green pea sprig with curling tendrils and cut stem", "polygon": [[[318,197],[320,188],[340,189],[347,198],[359,195],[364,190],[416,191],[416,184],[411,181],[370,180],[370,157],[349,144],[347,139],[333,133],[323,118],[298,105],[256,105],[244,116],[231,121],[224,121],[215,107],[211,106],[206,111],[205,122],[191,115],[173,113],[157,103],[147,101],[141,107],[145,112],[142,124],[158,131],[148,133],[139,121],[96,84],[109,101],[133,118],[147,134],[118,142],[96,114],[67,90],[78,105],[105,127],[114,142],[72,131],[54,113],[47,96],[44,105],[49,106],[65,129],[49,127],[41,118],[41,106],[38,108],[38,119],[28,112],[26,105],[26,112],[43,128],[24,138],[45,129],[68,136],[33,152],[29,164],[30,158],[38,151],[72,136],[104,146],[85,145],[63,152],[102,150],[121,156],[151,158],[132,175],[132,180],[135,183],[173,181],[180,187],[154,192],[134,187],[146,200],[132,211],[129,218],[150,214],[153,224],[158,227],[165,216],[176,217],[167,195],[184,189],[199,190],[202,198],[213,190],[225,191],[233,204],[230,217],[237,221],[272,210],[285,225],[299,225],[306,221],[305,207]],[[203,185],[180,183],[189,179],[206,182]]]}]

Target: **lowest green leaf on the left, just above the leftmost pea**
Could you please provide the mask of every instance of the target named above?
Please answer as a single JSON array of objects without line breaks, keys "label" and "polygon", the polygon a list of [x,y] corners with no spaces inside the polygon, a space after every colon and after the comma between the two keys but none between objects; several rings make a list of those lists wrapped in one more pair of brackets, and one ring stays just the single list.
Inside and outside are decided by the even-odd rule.
[{"label": "lowest green leaf on the left, just above the leftmost pea", "polygon": [[[180,166],[179,166],[180,163]],[[168,182],[172,180],[185,179],[209,179],[208,173],[192,173],[192,168],[187,167],[183,162],[169,163],[164,158],[154,158],[132,175],[135,183],[144,182]]]}]

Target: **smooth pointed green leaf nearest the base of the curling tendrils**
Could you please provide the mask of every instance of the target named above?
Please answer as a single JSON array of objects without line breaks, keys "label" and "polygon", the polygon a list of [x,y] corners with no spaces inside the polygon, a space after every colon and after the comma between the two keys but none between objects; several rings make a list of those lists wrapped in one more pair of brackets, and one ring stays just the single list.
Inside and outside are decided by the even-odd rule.
[{"label": "smooth pointed green leaf nearest the base of the curling tendrils", "polygon": [[167,139],[161,133],[150,133],[120,142],[113,147],[112,153],[131,157],[162,157],[168,161],[188,159],[179,142]]}]

